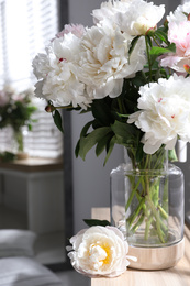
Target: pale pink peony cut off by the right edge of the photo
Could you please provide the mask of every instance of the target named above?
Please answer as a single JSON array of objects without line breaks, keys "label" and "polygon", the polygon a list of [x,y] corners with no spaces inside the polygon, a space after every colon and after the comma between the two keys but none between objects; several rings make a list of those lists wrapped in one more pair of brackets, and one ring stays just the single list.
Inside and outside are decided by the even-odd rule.
[{"label": "pale pink peony cut off by the right edge of the photo", "polygon": [[186,73],[186,65],[190,65],[190,21],[179,24],[169,23],[168,40],[176,44],[176,53],[168,54],[160,59],[160,65],[170,67],[178,73]]}]

